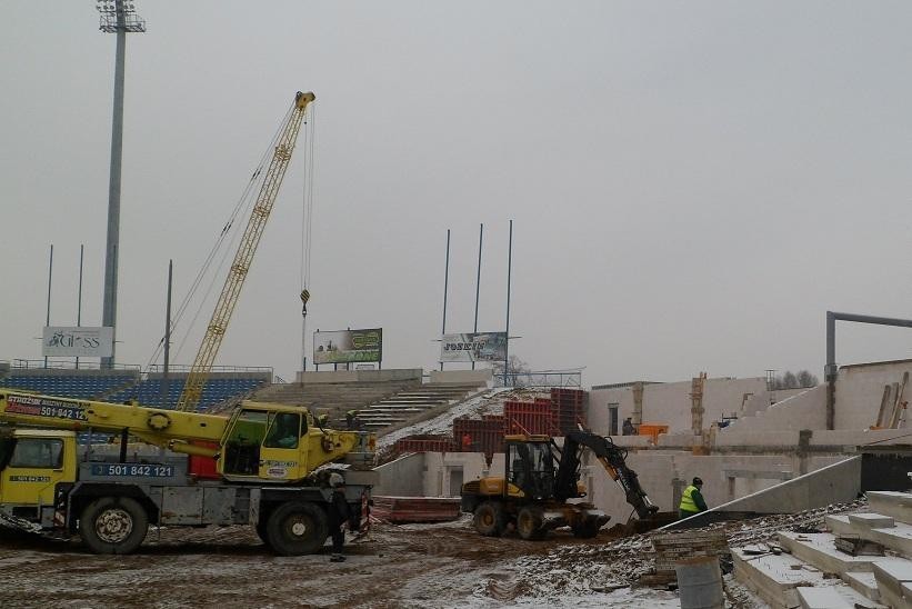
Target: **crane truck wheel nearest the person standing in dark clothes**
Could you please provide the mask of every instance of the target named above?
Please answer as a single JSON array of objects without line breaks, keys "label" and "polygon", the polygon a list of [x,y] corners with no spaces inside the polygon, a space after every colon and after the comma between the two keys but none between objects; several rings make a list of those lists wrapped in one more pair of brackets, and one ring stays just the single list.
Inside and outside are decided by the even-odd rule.
[{"label": "crane truck wheel nearest the person standing in dark clothes", "polygon": [[281,556],[310,555],[327,542],[327,513],[315,503],[282,503],[267,521],[268,546]]}]

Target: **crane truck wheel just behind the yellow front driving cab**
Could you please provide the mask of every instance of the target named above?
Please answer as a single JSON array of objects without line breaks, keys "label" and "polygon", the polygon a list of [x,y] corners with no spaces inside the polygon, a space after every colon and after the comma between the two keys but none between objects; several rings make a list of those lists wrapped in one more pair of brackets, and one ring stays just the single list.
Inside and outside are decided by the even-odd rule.
[{"label": "crane truck wheel just behind the yellow front driving cab", "polygon": [[82,510],[79,535],[94,553],[129,555],[140,547],[149,529],[149,516],[136,499],[102,497]]}]

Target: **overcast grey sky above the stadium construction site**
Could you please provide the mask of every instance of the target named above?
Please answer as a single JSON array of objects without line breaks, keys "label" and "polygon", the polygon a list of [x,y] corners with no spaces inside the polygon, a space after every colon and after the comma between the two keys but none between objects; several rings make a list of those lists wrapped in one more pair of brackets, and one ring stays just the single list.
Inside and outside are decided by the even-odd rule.
[{"label": "overcast grey sky above the stadium construction site", "polygon": [[[912,317],[908,2],[138,12],[119,362],[148,360],[168,260],[178,299],[297,90],[318,98],[309,329],[382,327],[384,368],[437,366],[448,228],[448,330],[472,329],[481,222],[479,329],[503,328],[510,219],[511,351],[587,386],[822,376],[828,309]],[[3,2],[0,359],[40,359],[50,243],[51,325],[76,322],[80,243],[101,322],[114,38],[89,0]],[[217,363],[297,368],[303,188],[293,160]],[[912,357],[908,330],[838,336],[841,363]]]}]

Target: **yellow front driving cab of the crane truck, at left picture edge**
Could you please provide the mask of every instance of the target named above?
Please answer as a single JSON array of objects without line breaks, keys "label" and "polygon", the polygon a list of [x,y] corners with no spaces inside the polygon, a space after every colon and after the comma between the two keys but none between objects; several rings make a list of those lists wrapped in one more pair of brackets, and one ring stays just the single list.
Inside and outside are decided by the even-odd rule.
[{"label": "yellow front driving cab of the crane truck, at left picture edge", "polygon": [[14,429],[0,436],[0,510],[50,526],[58,485],[77,479],[76,432]]}]

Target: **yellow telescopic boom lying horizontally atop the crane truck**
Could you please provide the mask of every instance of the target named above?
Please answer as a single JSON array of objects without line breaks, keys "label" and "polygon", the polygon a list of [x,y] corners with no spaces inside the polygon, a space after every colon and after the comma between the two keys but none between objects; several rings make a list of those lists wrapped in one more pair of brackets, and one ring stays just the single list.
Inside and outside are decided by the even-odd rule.
[{"label": "yellow telescopic boom lying horizontally atop the crane truck", "polygon": [[211,456],[189,441],[219,442],[228,418],[0,390],[0,422],[119,433],[128,430],[141,440],[179,452]]}]

